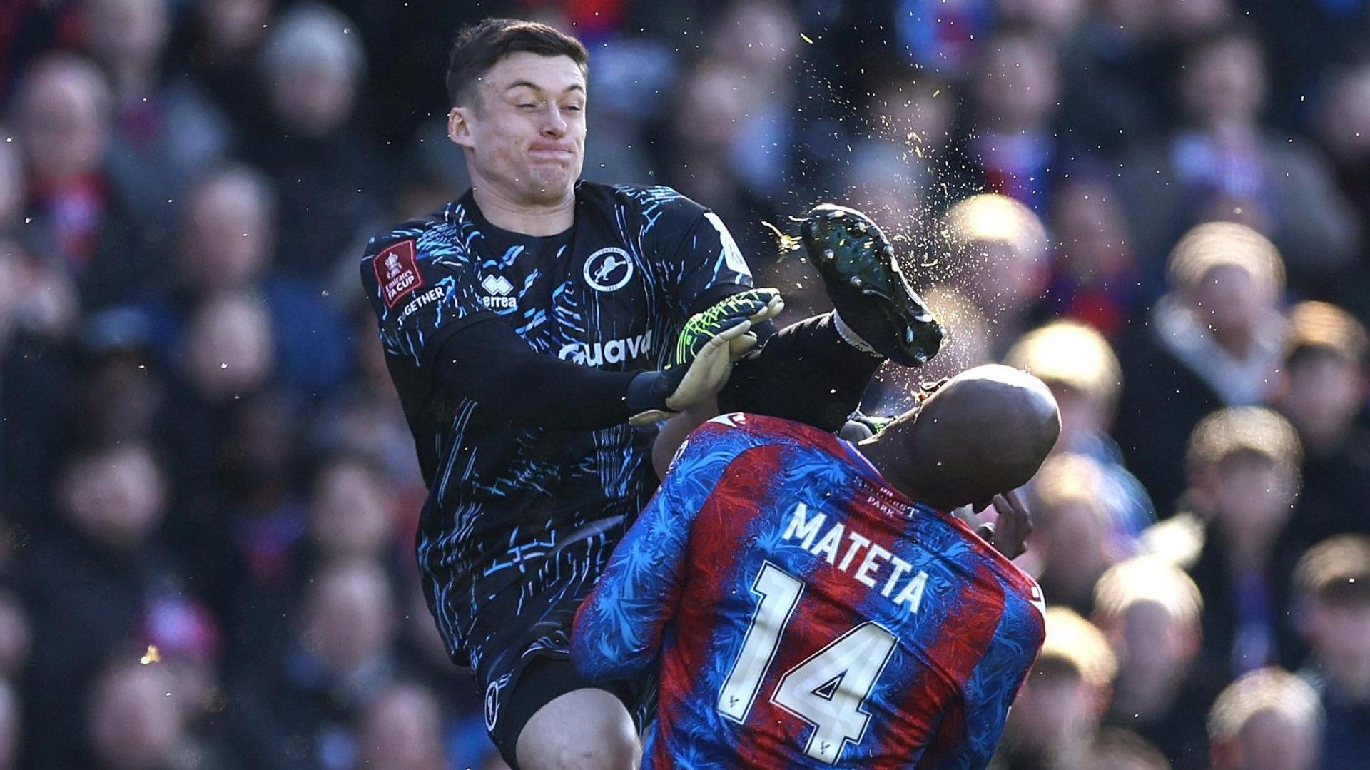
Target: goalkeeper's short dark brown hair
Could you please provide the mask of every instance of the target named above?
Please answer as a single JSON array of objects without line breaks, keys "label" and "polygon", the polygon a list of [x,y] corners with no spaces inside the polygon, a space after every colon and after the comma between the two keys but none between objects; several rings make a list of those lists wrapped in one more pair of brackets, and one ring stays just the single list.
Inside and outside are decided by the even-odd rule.
[{"label": "goalkeeper's short dark brown hair", "polygon": [[[590,55],[574,37],[544,23],[521,19],[485,19],[462,27],[447,63],[447,97],[451,105],[467,104],[481,75],[511,53],[569,56],[586,70]],[[478,103],[477,103],[478,104]]]}]

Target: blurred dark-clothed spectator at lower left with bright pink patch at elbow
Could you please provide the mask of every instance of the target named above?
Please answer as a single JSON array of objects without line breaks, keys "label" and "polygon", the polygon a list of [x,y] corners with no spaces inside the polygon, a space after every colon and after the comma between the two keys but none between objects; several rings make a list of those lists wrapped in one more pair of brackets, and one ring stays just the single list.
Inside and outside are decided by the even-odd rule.
[{"label": "blurred dark-clothed spectator at lower left with bright pink patch at elbow", "polygon": [[208,658],[218,630],[158,534],[166,481],[147,445],[75,454],[58,489],[66,527],[41,538],[18,566],[34,629],[23,684],[32,726],[26,765],[90,767],[81,741],[71,740],[85,733],[73,699],[86,697],[105,656],[156,644]]}]

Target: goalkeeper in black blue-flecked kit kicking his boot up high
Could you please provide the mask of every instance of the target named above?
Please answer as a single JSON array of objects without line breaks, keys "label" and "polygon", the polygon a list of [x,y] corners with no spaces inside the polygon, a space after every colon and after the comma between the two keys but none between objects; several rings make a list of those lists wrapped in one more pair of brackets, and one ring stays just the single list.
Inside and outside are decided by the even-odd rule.
[{"label": "goalkeeper in black blue-flecked kit kicking his boot up high", "polygon": [[717,397],[836,430],[884,360],[918,364],[940,343],[856,212],[822,208],[804,227],[837,312],[777,330],[777,292],[752,286],[717,215],[669,188],[580,181],[584,63],[543,25],[466,30],[448,127],[474,188],[377,236],[362,262],[429,486],[425,597],[523,770],[637,755],[645,688],[586,684],[569,634],[656,488],[656,421]]}]

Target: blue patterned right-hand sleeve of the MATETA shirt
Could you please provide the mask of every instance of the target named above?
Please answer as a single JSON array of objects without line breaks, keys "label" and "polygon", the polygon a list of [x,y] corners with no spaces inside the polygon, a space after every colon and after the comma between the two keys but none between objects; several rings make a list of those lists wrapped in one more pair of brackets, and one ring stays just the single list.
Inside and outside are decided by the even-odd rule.
[{"label": "blue patterned right-hand sleeve of the MATETA shirt", "polygon": [[999,629],[964,688],[964,733],[956,748],[937,763],[938,770],[980,770],[989,765],[1008,707],[1037,660],[1044,634],[1041,612],[1006,586]]}]

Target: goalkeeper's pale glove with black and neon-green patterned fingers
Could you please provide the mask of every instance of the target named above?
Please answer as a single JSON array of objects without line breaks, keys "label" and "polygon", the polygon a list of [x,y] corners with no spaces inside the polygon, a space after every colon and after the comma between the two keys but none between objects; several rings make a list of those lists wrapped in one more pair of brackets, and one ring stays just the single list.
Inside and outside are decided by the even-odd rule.
[{"label": "goalkeeper's pale glove with black and neon-green patterned fingers", "polygon": [[756,344],[752,325],[784,307],[775,289],[748,289],[692,315],[666,366],[644,371],[629,384],[627,403],[634,410],[629,422],[658,422],[717,396],[733,362]]}]

